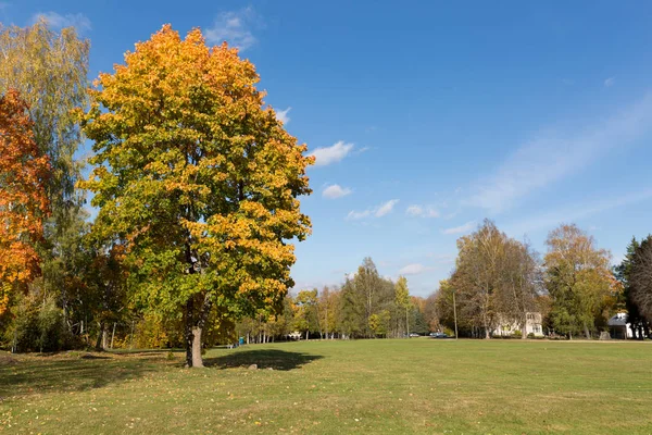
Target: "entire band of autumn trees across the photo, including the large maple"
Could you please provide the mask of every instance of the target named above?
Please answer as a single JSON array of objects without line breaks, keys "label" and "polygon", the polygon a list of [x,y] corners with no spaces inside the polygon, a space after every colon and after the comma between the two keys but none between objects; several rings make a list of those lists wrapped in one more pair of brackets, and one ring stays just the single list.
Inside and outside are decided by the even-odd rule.
[{"label": "entire band of autumn trees across the photo, including the large maple", "polygon": [[[2,26],[0,50],[2,348],[173,346],[201,366],[202,347],[240,336],[403,337],[450,332],[455,311],[466,336],[538,311],[550,334],[590,337],[619,310],[636,337],[650,334],[650,236],[612,270],[575,225],[553,231],[540,259],[486,221],[428,298],[371,259],[342,285],[289,295],[313,158],[237,50],[164,26],[92,85],[74,28]],[[76,159],[84,139],[88,161]]]}]

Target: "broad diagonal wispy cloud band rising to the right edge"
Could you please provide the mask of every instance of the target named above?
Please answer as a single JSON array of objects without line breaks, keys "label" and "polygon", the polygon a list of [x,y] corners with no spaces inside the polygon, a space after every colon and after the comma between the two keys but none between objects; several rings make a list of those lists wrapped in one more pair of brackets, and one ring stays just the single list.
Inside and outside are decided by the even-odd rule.
[{"label": "broad diagonal wispy cloud band rising to the right edge", "polygon": [[577,173],[609,150],[640,137],[652,126],[652,95],[604,122],[567,136],[543,135],[522,146],[478,183],[463,204],[494,213],[512,207],[536,189]]}]

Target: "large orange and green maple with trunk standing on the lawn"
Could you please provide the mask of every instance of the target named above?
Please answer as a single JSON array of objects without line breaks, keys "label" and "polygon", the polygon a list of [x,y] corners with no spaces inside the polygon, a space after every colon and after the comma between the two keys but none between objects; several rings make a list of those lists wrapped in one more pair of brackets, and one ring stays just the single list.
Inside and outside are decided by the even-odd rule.
[{"label": "large orange and green maple with trunk standing on the lawn", "polygon": [[310,220],[303,156],[256,90],[254,66],[199,29],[170,25],[101,74],[83,115],[96,165],[84,187],[93,231],[125,246],[134,299],[179,315],[186,362],[202,366],[210,314],[279,311]]}]

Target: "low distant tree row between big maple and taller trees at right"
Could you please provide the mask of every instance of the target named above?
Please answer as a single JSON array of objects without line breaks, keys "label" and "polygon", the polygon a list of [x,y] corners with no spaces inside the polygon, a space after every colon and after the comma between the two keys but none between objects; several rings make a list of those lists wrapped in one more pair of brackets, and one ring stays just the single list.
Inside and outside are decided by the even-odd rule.
[{"label": "low distant tree row between big maple and taller trees at right", "polygon": [[401,338],[437,330],[435,299],[410,296],[408,279],[379,275],[365,258],[341,286],[286,296],[280,315],[260,313],[236,324],[247,343],[275,339]]}]

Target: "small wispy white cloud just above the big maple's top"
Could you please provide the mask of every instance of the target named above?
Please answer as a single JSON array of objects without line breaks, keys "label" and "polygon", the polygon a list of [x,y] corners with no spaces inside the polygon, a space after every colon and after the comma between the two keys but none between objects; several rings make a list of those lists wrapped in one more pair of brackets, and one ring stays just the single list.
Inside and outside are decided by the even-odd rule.
[{"label": "small wispy white cloud just above the big maple's top", "polygon": [[213,27],[205,30],[206,41],[212,45],[227,41],[229,46],[244,51],[258,42],[251,33],[251,27],[259,22],[260,20],[251,7],[239,11],[223,12],[215,20]]}]

